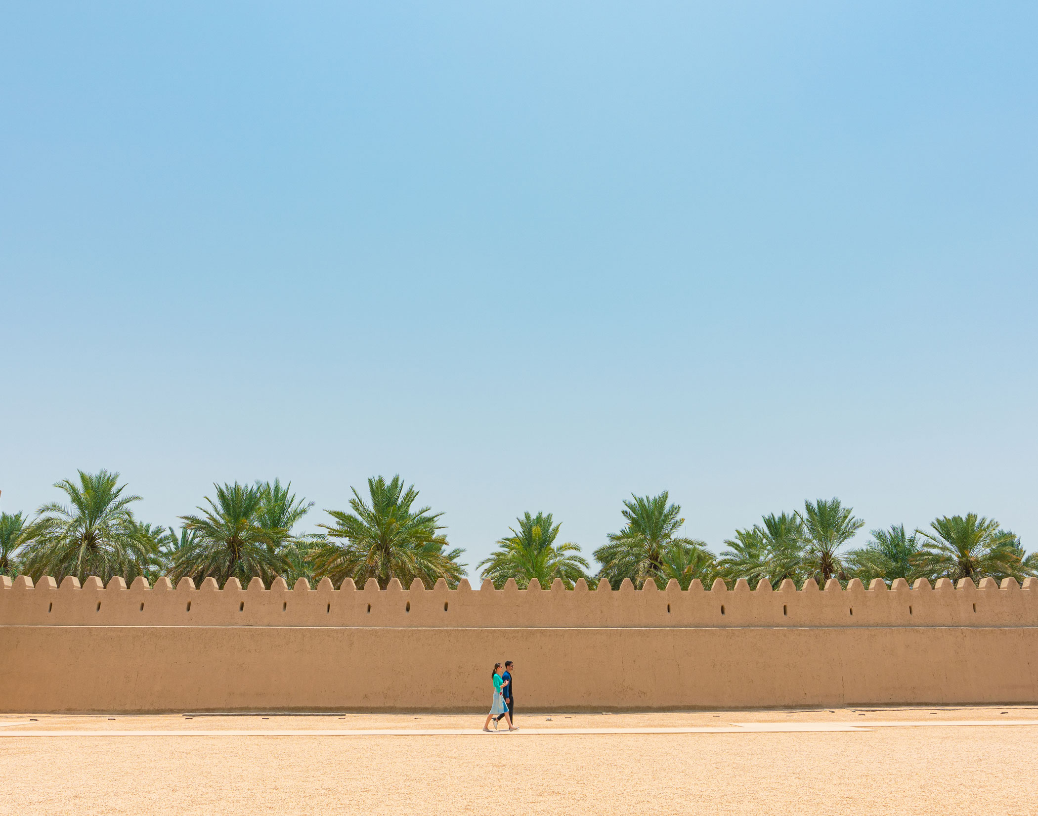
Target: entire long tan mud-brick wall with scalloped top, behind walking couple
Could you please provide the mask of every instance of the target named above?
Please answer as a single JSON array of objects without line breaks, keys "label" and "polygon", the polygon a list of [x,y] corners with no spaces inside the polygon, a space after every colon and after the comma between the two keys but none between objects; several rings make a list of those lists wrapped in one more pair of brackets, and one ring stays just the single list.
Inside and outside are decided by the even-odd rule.
[{"label": "entire long tan mud-brick wall with scalloped top, behind walking couple", "polygon": [[1038,702],[1038,580],[380,591],[0,580],[0,710]]}]

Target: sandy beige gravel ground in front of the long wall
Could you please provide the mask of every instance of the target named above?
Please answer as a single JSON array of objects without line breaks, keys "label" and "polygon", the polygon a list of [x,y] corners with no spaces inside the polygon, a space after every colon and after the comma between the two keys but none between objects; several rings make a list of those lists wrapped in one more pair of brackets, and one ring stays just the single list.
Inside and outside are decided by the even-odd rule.
[{"label": "sandy beige gravel ground in front of the long wall", "polygon": [[[1003,713],[1005,712],[1005,713]],[[547,722],[547,717],[551,722]],[[30,718],[35,722],[27,723]],[[991,720],[867,732],[0,737],[0,813],[1038,814],[1038,708],[523,715],[537,728]],[[1029,719],[1034,726],[996,726]],[[479,720],[479,722],[474,722]],[[2,715],[0,730],[454,729],[462,715]]]}]

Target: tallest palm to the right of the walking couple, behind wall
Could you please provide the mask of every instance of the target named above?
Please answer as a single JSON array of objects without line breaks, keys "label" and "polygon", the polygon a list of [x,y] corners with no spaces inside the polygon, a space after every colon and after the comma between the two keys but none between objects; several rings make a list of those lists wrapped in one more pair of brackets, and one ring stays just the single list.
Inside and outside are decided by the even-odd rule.
[{"label": "tallest palm to the right of the walking couple, behind wall", "polygon": [[680,505],[667,505],[668,494],[664,490],[658,496],[635,496],[624,501],[624,518],[627,524],[620,533],[610,533],[608,543],[595,550],[595,557],[602,569],[600,578],[610,586],[617,586],[624,578],[630,578],[635,587],[640,587],[652,578],[657,586],[662,581],[663,551],[671,544],[685,547],[706,547],[695,539],[676,537],[678,528],[685,523]]}]

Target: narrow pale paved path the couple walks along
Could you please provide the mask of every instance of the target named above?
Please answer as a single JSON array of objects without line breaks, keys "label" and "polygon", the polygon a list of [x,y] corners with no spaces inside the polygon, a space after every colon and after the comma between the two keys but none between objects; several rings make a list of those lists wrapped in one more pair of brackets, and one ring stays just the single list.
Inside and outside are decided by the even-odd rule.
[{"label": "narrow pale paved path the couple walks along", "polygon": [[[714,728],[520,728],[511,736],[580,736],[598,734],[781,734],[867,732],[874,728],[957,728],[961,726],[1038,726],[1038,719],[887,720],[877,723],[733,723]],[[435,737],[475,736],[482,729],[353,729],[353,730],[141,730],[141,731],[0,731],[2,737]],[[509,734],[507,731],[498,732]]]}]

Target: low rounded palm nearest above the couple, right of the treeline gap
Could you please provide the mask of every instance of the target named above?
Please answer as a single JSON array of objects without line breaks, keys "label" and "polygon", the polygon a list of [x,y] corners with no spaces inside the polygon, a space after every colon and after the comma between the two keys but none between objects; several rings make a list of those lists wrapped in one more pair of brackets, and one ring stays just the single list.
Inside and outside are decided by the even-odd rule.
[{"label": "low rounded palm nearest above the couple, right of the treeline gap", "polygon": [[499,539],[497,550],[475,566],[483,570],[484,578],[490,578],[498,589],[509,578],[515,578],[520,589],[526,589],[532,578],[542,587],[561,578],[563,586],[571,590],[584,577],[588,562],[577,554],[580,547],[572,542],[555,544],[562,524],[552,525],[550,513],[525,513],[516,521],[519,529],[510,528],[512,535]]}]

